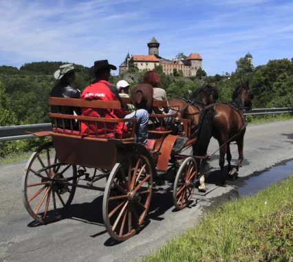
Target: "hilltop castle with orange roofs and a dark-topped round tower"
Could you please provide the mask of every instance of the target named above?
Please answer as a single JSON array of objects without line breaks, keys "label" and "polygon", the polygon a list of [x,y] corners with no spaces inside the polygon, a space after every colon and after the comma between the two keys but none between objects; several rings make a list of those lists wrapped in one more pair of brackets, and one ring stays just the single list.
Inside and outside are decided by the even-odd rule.
[{"label": "hilltop castle with orange roofs and a dark-topped round tower", "polygon": [[161,65],[165,74],[173,74],[173,69],[177,69],[177,71],[182,71],[184,77],[196,76],[197,70],[199,68],[202,69],[202,56],[198,53],[191,53],[186,59],[175,58],[169,60],[159,55],[160,43],[155,37],[147,43],[147,46],[149,47],[148,55],[135,54],[130,57],[128,53],[124,62],[119,67],[119,74],[127,71],[129,61],[131,60],[140,71],[144,69],[153,70],[155,66]]}]

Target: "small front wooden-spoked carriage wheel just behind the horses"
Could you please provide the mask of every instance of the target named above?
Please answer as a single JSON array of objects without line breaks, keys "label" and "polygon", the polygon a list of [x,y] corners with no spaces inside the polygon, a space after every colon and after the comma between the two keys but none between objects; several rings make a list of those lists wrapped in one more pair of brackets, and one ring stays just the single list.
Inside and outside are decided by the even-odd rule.
[{"label": "small front wooden-spoked carriage wheel just behind the horses", "polygon": [[181,210],[191,201],[197,179],[197,165],[193,157],[188,157],[181,164],[174,182],[173,203],[175,208]]}]

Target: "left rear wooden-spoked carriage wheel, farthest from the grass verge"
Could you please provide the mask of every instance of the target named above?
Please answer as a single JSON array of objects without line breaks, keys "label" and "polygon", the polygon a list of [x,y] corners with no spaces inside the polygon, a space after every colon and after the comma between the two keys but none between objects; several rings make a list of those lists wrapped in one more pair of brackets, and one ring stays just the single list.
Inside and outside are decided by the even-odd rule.
[{"label": "left rear wooden-spoked carriage wheel, farthest from the grass verge", "polygon": [[[52,164],[58,165],[48,167]],[[40,174],[45,178],[35,175],[42,168]],[[30,215],[43,223],[60,219],[74,198],[76,186],[67,186],[57,179],[73,177],[69,182],[76,184],[76,175],[76,166],[58,163],[52,142],[39,146],[28,160],[23,175],[23,203]]]}]

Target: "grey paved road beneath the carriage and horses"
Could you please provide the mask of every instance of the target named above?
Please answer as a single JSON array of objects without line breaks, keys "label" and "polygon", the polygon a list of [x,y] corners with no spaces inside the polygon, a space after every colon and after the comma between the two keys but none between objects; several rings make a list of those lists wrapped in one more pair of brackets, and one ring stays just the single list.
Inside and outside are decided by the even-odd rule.
[{"label": "grey paved road beneath the carriage and horses", "polygon": [[[293,120],[248,127],[239,179],[293,156]],[[213,140],[208,153],[217,149]],[[156,188],[146,227],[123,243],[113,243],[102,224],[102,195],[78,188],[69,218],[36,226],[26,212],[21,195],[25,161],[0,167],[0,261],[131,261],[140,258],[184,228],[192,226],[216,197],[235,188],[217,186],[216,154],[208,177],[208,193],[195,192],[191,208],[175,212],[171,192]],[[232,160],[238,157],[232,146]],[[277,174],[276,174],[277,175]]]}]

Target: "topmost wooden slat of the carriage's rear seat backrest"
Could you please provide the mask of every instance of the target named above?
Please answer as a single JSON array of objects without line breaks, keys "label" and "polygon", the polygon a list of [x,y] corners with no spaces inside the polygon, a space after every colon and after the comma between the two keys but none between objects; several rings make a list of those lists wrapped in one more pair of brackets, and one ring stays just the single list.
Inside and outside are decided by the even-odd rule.
[{"label": "topmost wooden slat of the carriage's rear seat backrest", "polygon": [[67,107],[86,107],[100,109],[121,109],[119,101],[104,100],[85,100],[76,98],[50,98],[50,105],[67,106]]}]

